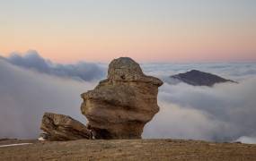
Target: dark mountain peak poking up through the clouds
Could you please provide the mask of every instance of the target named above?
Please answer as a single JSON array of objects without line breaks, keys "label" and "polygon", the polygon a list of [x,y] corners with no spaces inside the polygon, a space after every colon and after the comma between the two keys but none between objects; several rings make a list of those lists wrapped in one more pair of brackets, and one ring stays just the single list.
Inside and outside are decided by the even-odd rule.
[{"label": "dark mountain peak poking up through the clouds", "polygon": [[172,79],[180,80],[192,86],[208,86],[212,87],[216,83],[232,82],[238,83],[234,80],[226,80],[220,76],[209,72],[200,72],[198,70],[191,70],[190,72],[179,73],[171,76]]}]

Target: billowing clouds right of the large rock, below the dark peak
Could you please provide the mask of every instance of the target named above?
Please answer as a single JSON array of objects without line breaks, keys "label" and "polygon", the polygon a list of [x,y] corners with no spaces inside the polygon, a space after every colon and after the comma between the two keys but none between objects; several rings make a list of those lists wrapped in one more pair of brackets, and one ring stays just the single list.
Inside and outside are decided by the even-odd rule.
[{"label": "billowing clouds right of the large rock, below the dark peak", "polygon": [[160,113],[147,124],[145,137],[232,141],[256,136],[255,84],[256,78],[214,88],[165,83]]}]

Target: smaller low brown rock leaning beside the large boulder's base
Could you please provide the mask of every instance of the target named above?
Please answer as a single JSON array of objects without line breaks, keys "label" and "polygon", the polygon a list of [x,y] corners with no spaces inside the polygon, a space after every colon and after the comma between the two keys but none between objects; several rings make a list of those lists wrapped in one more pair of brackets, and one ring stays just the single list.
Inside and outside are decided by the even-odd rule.
[{"label": "smaller low brown rock leaning beside the large boulder's base", "polygon": [[46,132],[47,140],[91,139],[91,131],[73,118],[63,114],[45,113],[41,130]]}]

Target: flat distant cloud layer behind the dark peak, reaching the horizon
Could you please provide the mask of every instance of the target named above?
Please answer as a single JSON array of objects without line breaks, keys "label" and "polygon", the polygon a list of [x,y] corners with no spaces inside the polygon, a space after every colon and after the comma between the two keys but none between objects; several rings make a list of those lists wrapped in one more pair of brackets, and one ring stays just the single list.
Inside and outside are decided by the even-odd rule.
[{"label": "flat distant cloud layer behind the dark peak, reaching the horizon", "polygon": [[199,70],[211,72],[227,80],[244,80],[256,75],[255,62],[244,63],[187,63],[187,64],[142,64],[144,71],[150,75],[168,80],[168,77],[181,72]]}]

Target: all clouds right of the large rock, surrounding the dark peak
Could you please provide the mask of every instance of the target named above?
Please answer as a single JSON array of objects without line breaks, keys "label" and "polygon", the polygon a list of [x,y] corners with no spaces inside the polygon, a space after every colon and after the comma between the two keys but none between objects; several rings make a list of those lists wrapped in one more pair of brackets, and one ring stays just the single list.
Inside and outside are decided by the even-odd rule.
[{"label": "all clouds right of the large rock, surrounding the dark peak", "polygon": [[160,112],[146,125],[144,137],[214,141],[256,137],[256,64],[144,64],[144,69],[165,82],[170,75],[191,69],[240,81],[213,88],[164,83]]}]

